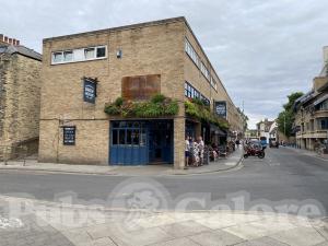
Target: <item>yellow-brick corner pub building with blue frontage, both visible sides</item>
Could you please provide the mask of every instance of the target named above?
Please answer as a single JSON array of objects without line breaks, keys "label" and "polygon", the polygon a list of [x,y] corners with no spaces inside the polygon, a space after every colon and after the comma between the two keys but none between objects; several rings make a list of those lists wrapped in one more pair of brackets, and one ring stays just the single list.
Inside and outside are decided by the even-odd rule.
[{"label": "yellow-brick corner pub building with blue frontage, both visible sides", "polygon": [[[186,116],[186,97],[212,109],[225,102],[227,120],[238,122],[185,17],[46,38],[43,54],[39,162],[183,168],[185,134],[211,131]],[[155,94],[174,99],[178,113],[144,118],[104,112],[118,97],[134,102]]]}]

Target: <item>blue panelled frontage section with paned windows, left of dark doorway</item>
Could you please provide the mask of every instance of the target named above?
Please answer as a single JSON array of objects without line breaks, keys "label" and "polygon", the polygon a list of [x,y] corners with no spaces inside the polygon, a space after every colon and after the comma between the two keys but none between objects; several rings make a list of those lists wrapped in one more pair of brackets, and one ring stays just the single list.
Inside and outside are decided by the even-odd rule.
[{"label": "blue panelled frontage section with paned windows, left of dark doorway", "polygon": [[109,164],[148,164],[148,125],[145,121],[112,121],[110,126]]}]

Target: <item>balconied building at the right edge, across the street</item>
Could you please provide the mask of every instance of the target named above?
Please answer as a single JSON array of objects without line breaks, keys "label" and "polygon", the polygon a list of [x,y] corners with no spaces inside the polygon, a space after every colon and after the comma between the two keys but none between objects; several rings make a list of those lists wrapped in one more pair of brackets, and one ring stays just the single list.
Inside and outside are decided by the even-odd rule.
[{"label": "balconied building at the right edge, across the street", "polygon": [[294,104],[294,132],[297,147],[314,150],[328,139],[328,47],[324,47],[324,66],[314,78],[313,89]]}]

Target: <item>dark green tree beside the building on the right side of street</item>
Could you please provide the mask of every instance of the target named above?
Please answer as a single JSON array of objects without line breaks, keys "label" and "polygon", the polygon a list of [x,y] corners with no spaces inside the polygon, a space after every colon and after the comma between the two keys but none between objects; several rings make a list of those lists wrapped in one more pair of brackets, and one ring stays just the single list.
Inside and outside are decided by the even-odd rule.
[{"label": "dark green tree beside the building on the right side of street", "polygon": [[303,96],[303,92],[294,92],[288,96],[289,102],[283,105],[283,110],[279,114],[277,124],[279,131],[283,132],[286,137],[293,134],[293,124],[295,120],[295,113],[293,105],[297,98]]}]

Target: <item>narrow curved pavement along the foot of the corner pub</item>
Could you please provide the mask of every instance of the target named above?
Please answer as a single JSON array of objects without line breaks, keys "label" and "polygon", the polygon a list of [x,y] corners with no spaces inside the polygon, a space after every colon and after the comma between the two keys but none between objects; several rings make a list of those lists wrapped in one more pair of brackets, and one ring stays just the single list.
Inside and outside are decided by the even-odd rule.
[{"label": "narrow curved pavement along the foot of the corner pub", "polygon": [[209,165],[189,167],[188,169],[174,169],[173,165],[142,165],[142,166],[99,166],[39,163],[36,159],[9,161],[7,165],[0,162],[0,169],[57,172],[92,175],[117,175],[117,176],[162,176],[162,175],[197,175],[232,169],[242,162],[243,151],[237,149],[229,157],[210,162]]}]

